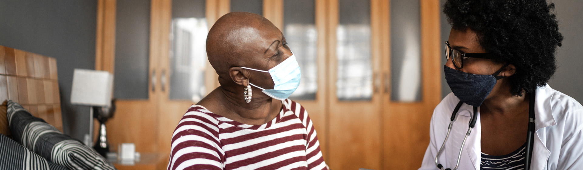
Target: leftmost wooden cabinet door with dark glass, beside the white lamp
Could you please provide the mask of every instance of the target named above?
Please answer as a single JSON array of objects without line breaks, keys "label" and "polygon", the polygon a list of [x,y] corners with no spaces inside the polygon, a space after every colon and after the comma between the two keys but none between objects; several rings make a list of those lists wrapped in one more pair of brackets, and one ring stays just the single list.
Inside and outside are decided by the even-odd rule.
[{"label": "leftmost wooden cabinet door with dark glass, beside the white lamp", "polygon": [[160,87],[155,77],[159,76],[159,44],[153,40],[157,28],[150,24],[156,17],[152,9],[150,1],[98,1],[96,69],[114,74],[117,110],[106,123],[114,151],[120,143],[134,143],[142,153],[158,151],[156,91]]}]

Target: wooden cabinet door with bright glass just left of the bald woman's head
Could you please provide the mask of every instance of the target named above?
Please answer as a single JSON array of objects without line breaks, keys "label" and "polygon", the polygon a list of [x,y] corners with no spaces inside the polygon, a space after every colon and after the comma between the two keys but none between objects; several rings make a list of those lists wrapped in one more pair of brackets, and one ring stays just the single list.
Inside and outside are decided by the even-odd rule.
[{"label": "wooden cabinet door with bright glass just left of the bald woman's head", "polygon": [[[206,35],[224,2],[216,0],[154,0],[158,7],[160,92],[156,118],[160,153],[170,154],[172,134],[182,115],[219,86],[206,58]],[[223,5],[221,5],[223,3]]]}]

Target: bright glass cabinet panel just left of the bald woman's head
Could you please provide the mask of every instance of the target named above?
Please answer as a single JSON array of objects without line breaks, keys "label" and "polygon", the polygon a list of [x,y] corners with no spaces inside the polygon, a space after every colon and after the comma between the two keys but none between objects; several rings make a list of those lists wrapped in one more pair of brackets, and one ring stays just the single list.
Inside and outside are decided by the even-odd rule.
[{"label": "bright glass cabinet panel just left of the bald woman's head", "polygon": [[205,1],[172,1],[170,100],[198,102],[206,94]]}]

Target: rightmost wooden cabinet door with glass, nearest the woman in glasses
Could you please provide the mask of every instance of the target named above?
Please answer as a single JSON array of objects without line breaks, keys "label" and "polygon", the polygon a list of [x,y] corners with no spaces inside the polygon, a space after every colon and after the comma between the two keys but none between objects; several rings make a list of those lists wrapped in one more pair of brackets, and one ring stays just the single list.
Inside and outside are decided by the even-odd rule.
[{"label": "rightmost wooden cabinet door with glass, nearest the woman in glasses", "polygon": [[417,169],[429,144],[429,123],[441,101],[439,3],[382,1],[384,169]]}]

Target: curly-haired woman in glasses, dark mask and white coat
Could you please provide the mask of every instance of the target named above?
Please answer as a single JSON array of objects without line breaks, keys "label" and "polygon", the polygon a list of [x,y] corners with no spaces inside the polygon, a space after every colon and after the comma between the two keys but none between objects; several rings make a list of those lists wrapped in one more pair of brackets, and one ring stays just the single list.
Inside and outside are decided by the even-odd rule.
[{"label": "curly-haired woman in glasses, dark mask and white coat", "polygon": [[445,2],[452,93],[433,112],[419,169],[583,169],[583,107],[546,84],[563,40],[553,10],[545,0]]}]

